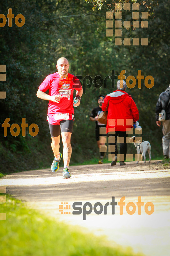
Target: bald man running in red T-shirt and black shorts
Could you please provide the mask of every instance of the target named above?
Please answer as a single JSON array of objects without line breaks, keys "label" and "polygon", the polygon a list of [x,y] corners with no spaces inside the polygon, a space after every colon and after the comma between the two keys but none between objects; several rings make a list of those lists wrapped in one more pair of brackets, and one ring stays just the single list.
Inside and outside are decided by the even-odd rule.
[{"label": "bald man running in red T-shirt and black shorts", "polygon": [[[59,162],[62,158],[62,154],[59,152],[61,133],[63,141],[64,179],[71,177],[69,163],[72,152],[70,139],[74,122],[74,89],[78,97],[78,103],[74,104],[74,107],[80,105],[80,99],[83,94],[83,89],[78,78],[76,84],[73,83],[72,79],[74,75],[68,73],[69,66],[66,58],[59,58],[56,65],[58,72],[47,76],[37,91],[38,98],[49,101],[47,121],[52,140],[51,147],[55,156],[51,165],[52,172],[58,170]],[[47,90],[49,90],[48,94],[46,93]]]}]

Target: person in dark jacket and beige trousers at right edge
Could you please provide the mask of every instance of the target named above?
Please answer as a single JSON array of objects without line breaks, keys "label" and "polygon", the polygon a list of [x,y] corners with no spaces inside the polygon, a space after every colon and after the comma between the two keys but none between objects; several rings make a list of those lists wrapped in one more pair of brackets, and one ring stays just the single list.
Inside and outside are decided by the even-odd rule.
[{"label": "person in dark jacket and beige trousers at right edge", "polygon": [[166,120],[162,122],[162,148],[164,159],[170,158],[170,84],[169,87],[166,88],[165,92],[162,92],[159,95],[159,99],[156,103],[156,110],[155,110],[155,117],[156,117],[156,124],[161,126],[161,122],[159,119],[159,112],[162,109],[166,112]]}]

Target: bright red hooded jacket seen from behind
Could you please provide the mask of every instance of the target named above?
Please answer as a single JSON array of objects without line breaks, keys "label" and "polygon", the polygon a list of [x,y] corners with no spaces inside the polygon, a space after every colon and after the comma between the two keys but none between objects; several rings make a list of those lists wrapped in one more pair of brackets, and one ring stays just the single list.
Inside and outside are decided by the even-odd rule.
[{"label": "bright red hooded jacket seen from behind", "polygon": [[139,119],[139,111],[134,100],[128,93],[116,90],[105,97],[101,106],[103,111],[107,108],[108,100],[107,132],[129,131],[133,127],[133,122]]}]

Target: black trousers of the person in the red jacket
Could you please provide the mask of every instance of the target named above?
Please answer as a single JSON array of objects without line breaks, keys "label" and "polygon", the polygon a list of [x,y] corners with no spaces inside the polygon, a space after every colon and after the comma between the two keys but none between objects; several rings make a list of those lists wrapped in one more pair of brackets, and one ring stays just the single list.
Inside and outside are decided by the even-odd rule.
[{"label": "black trousers of the person in the red jacket", "polygon": [[113,136],[115,137],[115,143],[109,143],[108,145],[115,145],[115,152],[110,152],[110,154],[117,156],[118,155],[118,151],[117,151],[117,137],[124,137],[124,143],[120,143],[120,155],[124,155],[124,160],[126,159],[126,153],[127,153],[127,144],[126,144],[126,132],[115,132],[115,134],[108,134],[107,136]]}]

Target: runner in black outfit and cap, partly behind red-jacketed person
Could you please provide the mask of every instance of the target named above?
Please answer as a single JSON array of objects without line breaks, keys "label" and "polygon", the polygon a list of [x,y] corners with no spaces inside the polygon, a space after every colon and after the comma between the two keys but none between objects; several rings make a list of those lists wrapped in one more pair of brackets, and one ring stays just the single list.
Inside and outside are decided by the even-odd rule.
[{"label": "runner in black outfit and cap, partly behind red-jacketed person", "polygon": [[[100,132],[100,127],[106,127],[105,124],[100,124],[98,122],[98,116],[99,114],[102,112],[101,110],[101,105],[102,103],[104,102],[104,98],[105,96],[104,95],[99,95],[98,97],[98,104],[99,104],[99,107],[97,108],[94,108],[92,110],[92,113],[90,115],[90,120],[91,121],[95,121],[96,122],[96,128],[95,128],[95,133],[96,133],[96,140],[97,140],[97,145],[98,145],[98,148],[100,148],[100,159],[99,159],[99,164],[103,164],[103,158],[105,156],[105,152],[107,150],[106,146],[105,146],[105,143],[106,143],[106,134],[104,134],[104,132]],[[101,133],[101,134],[100,134]],[[105,136],[105,137],[104,137]],[[103,152],[101,152],[103,151]]]}]

